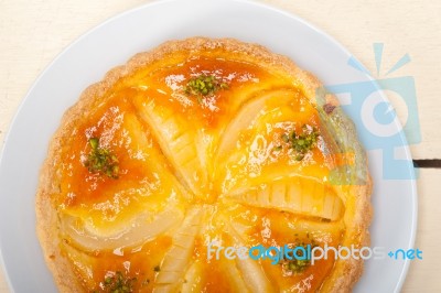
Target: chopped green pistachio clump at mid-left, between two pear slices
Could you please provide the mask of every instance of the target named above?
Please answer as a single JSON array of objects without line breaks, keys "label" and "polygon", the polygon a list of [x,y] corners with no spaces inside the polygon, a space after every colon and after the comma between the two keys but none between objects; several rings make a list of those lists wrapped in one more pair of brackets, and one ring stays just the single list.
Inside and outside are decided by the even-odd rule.
[{"label": "chopped green pistachio clump at mid-left, between two pear slices", "polygon": [[107,149],[99,146],[98,138],[90,138],[89,144],[92,148],[84,165],[90,173],[101,173],[110,178],[118,178],[119,165],[118,158]]}]

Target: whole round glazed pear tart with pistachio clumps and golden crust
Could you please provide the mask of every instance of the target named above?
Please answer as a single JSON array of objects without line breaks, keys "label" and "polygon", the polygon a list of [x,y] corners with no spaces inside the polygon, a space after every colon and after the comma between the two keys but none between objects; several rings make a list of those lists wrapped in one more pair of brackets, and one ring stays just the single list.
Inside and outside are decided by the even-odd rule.
[{"label": "whole round glazed pear tart with pistachio clumps and golden crust", "polygon": [[370,191],[354,124],[315,77],[193,37],[136,55],[67,110],[36,229],[62,292],[345,292],[362,259],[233,252],[367,246]]}]

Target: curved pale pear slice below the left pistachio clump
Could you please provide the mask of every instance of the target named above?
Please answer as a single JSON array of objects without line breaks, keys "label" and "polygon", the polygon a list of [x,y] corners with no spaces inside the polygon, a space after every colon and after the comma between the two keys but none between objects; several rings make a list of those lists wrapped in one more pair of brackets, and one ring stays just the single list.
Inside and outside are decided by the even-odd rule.
[{"label": "curved pale pear slice below the left pistachio clump", "polygon": [[183,220],[183,211],[176,207],[153,215],[143,213],[126,225],[127,228],[111,231],[99,231],[78,217],[63,215],[61,217],[62,236],[74,247],[95,251],[131,247],[149,241],[168,231]]}]

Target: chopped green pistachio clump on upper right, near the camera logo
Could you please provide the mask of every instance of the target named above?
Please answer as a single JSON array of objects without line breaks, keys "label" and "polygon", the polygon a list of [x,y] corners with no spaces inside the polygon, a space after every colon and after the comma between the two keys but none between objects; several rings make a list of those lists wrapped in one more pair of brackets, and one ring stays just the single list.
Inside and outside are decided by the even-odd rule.
[{"label": "chopped green pistachio clump on upper right, near the camera logo", "polygon": [[315,128],[311,130],[304,124],[301,134],[292,131],[289,134],[283,133],[281,139],[283,142],[289,143],[290,148],[295,151],[295,160],[301,161],[309,151],[315,148],[319,135],[319,131]]}]

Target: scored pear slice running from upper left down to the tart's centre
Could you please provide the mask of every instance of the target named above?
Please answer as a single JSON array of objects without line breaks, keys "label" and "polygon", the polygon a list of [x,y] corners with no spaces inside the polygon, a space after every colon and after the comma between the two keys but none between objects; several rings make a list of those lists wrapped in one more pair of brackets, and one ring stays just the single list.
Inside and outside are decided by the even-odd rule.
[{"label": "scored pear slice running from upper left down to the tart's centre", "polygon": [[184,180],[190,189],[198,193],[201,181],[206,182],[206,174],[198,156],[197,143],[201,140],[196,131],[191,131],[194,126],[178,119],[170,109],[159,108],[153,101],[142,101],[146,98],[141,98],[136,100],[141,118],[150,124],[176,175]]}]

